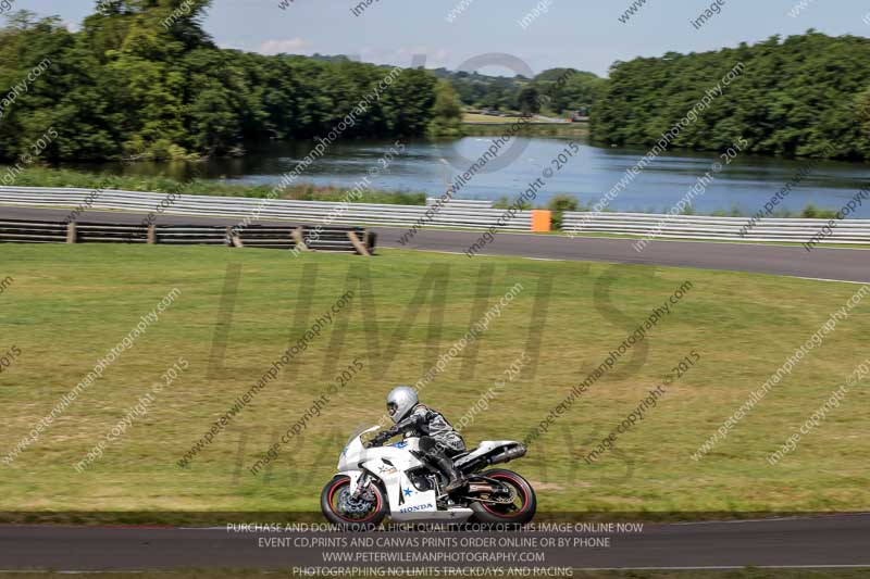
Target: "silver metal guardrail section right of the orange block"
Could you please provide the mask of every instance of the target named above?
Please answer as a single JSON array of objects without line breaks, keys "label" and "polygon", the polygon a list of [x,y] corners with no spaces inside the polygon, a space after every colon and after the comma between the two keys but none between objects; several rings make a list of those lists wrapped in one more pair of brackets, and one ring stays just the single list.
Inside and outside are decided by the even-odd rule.
[{"label": "silver metal guardrail section right of the orange block", "polygon": [[[567,212],[562,229],[572,234],[619,234],[649,239],[697,239],[726,241],[776,241],[807,243],[830,219],[759,219],[741,236],[748,217],[707,217],[698,215],[647,215],[641,213]],[[820,243],[870,244],[870,219],[840,219],[825,230]]]}]

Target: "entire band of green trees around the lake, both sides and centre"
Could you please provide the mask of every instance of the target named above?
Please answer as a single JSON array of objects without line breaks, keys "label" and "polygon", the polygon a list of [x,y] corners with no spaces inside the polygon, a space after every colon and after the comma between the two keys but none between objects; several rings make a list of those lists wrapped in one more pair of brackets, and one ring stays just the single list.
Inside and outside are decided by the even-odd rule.
[{"label": "entire band of green trees around the lake, both sides and centre", "polygon": [[464,106],[591,112],[594,142],[651,146],[736,63],[741,77],[671,148],[745,138],[750,153],[870,156],[867,38],[809,30],[669,52],[617,62],[608,78],[406,68],[381,90],[391,67],[216,47],[202,27],[210,2],[100,0],[75,33],[58,17],[11,14],[0,29],[0,160],[18,159],[50,127],[59,135],[46,161],[241,154],[246,142],[327,134],[360,102],[369,104],[343,138],[462,135]]}]

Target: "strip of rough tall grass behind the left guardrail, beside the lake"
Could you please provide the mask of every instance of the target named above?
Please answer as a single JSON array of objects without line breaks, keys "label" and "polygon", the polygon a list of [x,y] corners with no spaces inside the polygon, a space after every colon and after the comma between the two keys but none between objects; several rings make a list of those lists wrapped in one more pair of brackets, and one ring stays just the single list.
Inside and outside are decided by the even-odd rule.
[{"label": "strip of rough tall grass behind the left guardrail, beside the lake", "polygon": [[[75,187],[82,189],[122,189],[127,191],[151,191],[157,193],[182,192],[222,197],[270,197],[272,185],[227,184],[212,179],[195,179],[181,182],[170,177],[130,176],[84,173],[71,169],[30,167],[15,179],[17,187]],[[425,205],[426,194],[408,191],[378,191],[368,189],[348,196],[349,187],[316,187],[298,184],[285,187],[275,199],[303,201],[350,201],[353,203],[388,203],[397,205]]]}]

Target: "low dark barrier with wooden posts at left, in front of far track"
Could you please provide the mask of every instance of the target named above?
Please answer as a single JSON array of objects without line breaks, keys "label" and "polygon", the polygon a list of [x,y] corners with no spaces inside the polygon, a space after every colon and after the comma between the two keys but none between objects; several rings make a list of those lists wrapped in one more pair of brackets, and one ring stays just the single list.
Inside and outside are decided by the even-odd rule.
[{"label": "low dark barrier with wooden posts at left, in front of far track", "polygon": [[105,223],[0,219],[0,242],[8,243],[161,243],[229,246],[371,255],[376,236],[361,227],[262,226],[235,231],[212,225],[120,225]]}]

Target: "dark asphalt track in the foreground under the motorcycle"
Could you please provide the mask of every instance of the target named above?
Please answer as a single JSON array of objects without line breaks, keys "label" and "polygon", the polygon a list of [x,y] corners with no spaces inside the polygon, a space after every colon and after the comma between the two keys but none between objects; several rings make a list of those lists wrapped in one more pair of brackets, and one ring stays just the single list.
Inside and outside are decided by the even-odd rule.
[{"label": "dark asphalt track in the foreground under the motorcycle", "polygon": [[[518,536],[498,537],[511,534]],[[0,569],[289,568],[327,566],[321,553],[335,551],[260,546],[258,539],[266,537],[291,536],[231,533],[214,528],[0,527]],[[522,551],[543,551],[543,565],[547,567],[870,567],[867,545],[870,515],[838,515],[645,526],[637,534],[612,536],[610,547]]]}]

